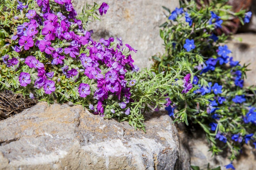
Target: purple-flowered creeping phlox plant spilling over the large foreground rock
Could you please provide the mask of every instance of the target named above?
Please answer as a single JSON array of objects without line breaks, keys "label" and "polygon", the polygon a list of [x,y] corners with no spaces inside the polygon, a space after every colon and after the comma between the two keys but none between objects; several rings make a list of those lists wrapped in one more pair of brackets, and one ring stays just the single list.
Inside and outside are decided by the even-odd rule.
[{"label": "purple-flowered creeping phlox plant spilling over the large foreground rock", "polygon": [[94,41],[86,24],[108,8],[86,5],[77,17],[71,0],[2,0],[0,88],[48,103],[82,104],[145,131],[142,109],[170,104],[165,94],[183,88],[183,67],[165,76],[139,71],[129,53],[137,50],[123,47],[121,38]]}]

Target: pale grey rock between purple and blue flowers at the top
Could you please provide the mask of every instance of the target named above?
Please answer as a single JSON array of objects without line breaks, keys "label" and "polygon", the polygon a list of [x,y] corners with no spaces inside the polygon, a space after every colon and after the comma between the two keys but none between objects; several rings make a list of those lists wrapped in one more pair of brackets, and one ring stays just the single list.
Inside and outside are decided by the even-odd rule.
[{"label": "pale grey rock between purple and blue flowers at the top", "polygon": [[[165,52],[160,38],[159,26],[167,19],[162,6],[174,10],[179,7],[179,0],[157,0],[157,1],[110,1],[110,0],[73,0],[78,13],[83,6],[97,2],[109,4],[106,15],[100,16],[101,21],[94,21],[88,26],[88,30],[94,30],[93,38],[108,39],[109,37],[122,37],[123,45],[129,44],[137,53],[132,52],[134,64],[140,68],[149,67],[153,62],[151,57],[157,53]],[[168,14],[169,15],[169,14]]]}]

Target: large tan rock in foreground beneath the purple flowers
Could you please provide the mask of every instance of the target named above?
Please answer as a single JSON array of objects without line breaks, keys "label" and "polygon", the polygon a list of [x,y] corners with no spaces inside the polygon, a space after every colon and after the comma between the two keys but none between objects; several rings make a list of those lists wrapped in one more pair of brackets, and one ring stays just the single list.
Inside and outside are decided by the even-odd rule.
[{"label": "large tan rock in foreground beneath the purple flowers", "polygon": [[182,168],[171,118],[150,113],[145,125],[147,133],[80,105],[42,102],[0,121],[1,169]]}]

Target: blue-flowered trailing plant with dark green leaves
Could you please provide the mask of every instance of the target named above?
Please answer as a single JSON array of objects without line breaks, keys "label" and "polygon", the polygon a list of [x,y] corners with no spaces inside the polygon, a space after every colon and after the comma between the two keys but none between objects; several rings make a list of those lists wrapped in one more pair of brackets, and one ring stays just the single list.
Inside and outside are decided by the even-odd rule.
[{"label": "blue-flowered trailing plant with dark green leaves", "polygon": [[[175,70],[178,64],[187,66],[191,83],[185,76],[184,92],[191,90],[169,94],[172,105],[166,110],[174,121],[199,124],[213,154],[226,148],[232,161],[244,143],[256,147],[256,88],[243,88],[246,66],[233,60],[224,44],[229,36],[215,34],[225,22],[222,16],[238,17],[242,23],[251,18],[252,13],[244,10],[233,13],[226,2],[212,0],[199,10],[194,1],[180,1],[181,7],[172,12],[164,7],[168,20],[161,25],[160,36],[166,51],[153,56],[153,68],[159,73]],[[226,167],[233,168],[232,162]]]}]

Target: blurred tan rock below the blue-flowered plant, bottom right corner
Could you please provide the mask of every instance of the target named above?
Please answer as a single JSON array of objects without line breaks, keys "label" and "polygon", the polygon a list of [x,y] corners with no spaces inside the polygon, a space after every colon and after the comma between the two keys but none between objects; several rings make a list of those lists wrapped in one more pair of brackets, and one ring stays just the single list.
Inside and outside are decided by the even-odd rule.
[{"label": "blurred tan rock below the blue-flowered plant, bottom right corner", "polygon": [[[212,152],[209,151],[210,147],[205,134],[201,129],[196,130],[192,134],[188,135],[189,138],[189,153],[190,153],[190,164],[192,166],[199,166],[200,169],[207,169],[208,163],[210,168],[226,169],[225,165],[230,164],[227,153],[228,150],[224,149],[224,152],[219,155],[212,156]],[[239,155],[238,159],[233,161],[233,166],[236,169],[242,170],[255,170],[256,164],[256,150],[252,146],[245,145],[242,148],[242,154]]]}]

